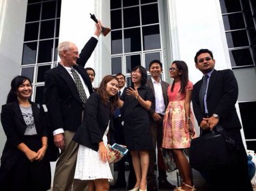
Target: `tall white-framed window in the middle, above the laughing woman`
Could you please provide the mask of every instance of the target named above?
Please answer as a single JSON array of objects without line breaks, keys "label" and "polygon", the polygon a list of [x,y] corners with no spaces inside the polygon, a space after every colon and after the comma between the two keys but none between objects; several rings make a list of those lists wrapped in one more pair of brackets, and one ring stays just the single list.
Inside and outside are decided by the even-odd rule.
[{"label": "tall white-framed window in the middle, above the laughing woman", "polygon": [[141,65],[148,70],[151,60],[161,60],[160,21],[157,0],[111,0],[112,74],[126,75]]}]

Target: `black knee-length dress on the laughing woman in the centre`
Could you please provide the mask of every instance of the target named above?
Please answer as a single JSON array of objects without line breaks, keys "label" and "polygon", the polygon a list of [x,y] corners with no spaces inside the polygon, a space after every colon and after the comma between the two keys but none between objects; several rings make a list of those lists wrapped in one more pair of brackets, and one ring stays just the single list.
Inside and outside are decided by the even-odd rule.
[{"label": "black knee-length dress on the laughing woman in the centre", "polygon": [[[132,88],[134,88],[132,86]],[[138,88],[139,96],[145,101],[154,101],[152,89],[147,86]],[[120,98],[124,101],[124,135],[128,150],[152,150],[149,112],[126,91]]]}]

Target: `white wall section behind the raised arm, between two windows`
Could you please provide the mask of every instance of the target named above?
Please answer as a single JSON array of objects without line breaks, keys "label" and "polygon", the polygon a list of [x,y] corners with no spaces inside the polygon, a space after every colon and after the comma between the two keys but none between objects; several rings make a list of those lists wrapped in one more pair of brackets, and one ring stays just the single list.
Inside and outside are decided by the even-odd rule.
[{"label": "white wall section behind the raised arm, between two windows", "polygon": [[[103,26],[110,28],[109,0],[62,0],[59,42],[72,41],[81,50],[96,29],[90,14],[94,14]],[[98,45],[85,65],[85,67],[92,67],[96,71],[94,86],[98,86],[104,75],[111,74],[110,40],[111,33],[106,37],[100,35]]]}]

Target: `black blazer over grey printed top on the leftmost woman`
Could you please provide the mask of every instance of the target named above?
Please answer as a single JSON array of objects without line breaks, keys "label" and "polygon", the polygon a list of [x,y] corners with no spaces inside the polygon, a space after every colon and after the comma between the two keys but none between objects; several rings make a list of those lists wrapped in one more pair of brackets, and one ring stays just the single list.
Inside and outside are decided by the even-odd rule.
[{"label": "black blazer over grey printed top on the leftmost woman", "polygon": [[[42,125],[40,119],[40,109],[38,105],[31,102],[31,107],[38,136],[47,136],[47,129]],[[13,164],[18,162],[18,159],[23,154],[23,152],[18,150],[17,146],[24,142],[24,133],[27,128],[18,101],[2,105],[1,123],[7,137],[3,148],[3,155],[1,156],[1,163],[5,163],[5,167],[10,168]]]}]

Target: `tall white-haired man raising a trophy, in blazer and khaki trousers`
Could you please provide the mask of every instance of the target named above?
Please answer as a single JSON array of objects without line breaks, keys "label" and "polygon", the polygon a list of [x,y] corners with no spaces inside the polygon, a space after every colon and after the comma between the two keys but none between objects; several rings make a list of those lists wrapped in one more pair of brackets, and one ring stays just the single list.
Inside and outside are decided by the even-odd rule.
[{"label": "tall white-haired man raising a trophy, in blazer and khaki trousers", "polygon": [[78,152],[78,144],[72,141],[72,137],[82,122],[85,102],[93,92],[84,67],[98,43],[101,30],[98,22],[94,37],[85,44],[81,54],[72,42],[59,44],[61,61],[44,76],[44,102],[52,124],[55,145],[61,149],[53,181],[55,191],[80,190],[78,181],[74,181],[72,188]]}]

